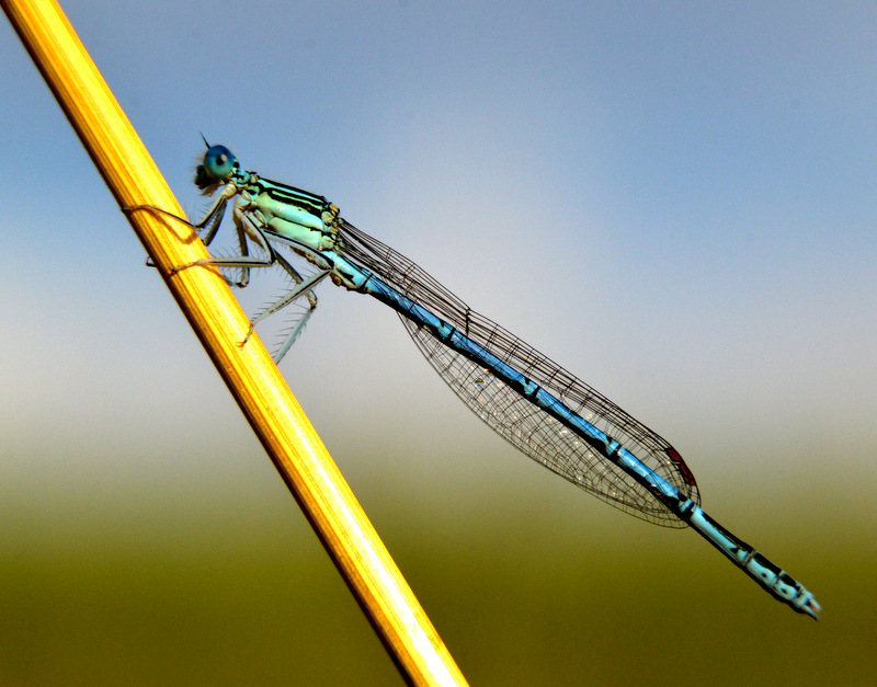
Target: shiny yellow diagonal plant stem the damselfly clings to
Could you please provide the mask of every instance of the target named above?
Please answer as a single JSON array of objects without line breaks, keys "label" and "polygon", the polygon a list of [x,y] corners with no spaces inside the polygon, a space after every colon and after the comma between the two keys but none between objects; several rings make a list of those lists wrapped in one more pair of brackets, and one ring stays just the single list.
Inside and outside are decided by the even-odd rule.
[{"label": "shiny yellow diagonal plant stem the damselfly clings to", "polygon": [[[119,206],[151,205],[182,217],[57,3],[0,4]],[[417,685],[465,685],[259,337],[241,345],[249,321],[225,282],[213,268],[171,272],[208,257],[204,245],[161,213],[133,211],[128,219],[402,676]]]}]

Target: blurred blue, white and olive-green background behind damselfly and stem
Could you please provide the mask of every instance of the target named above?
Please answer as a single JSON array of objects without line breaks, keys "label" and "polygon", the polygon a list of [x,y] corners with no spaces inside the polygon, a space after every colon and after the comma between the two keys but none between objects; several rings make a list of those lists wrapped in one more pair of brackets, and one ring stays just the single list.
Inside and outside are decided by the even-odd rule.
[{"label": "blurred blue, white and olive-green background behind damselfly and stem", "polygon": [[[62,5],[190,216],[200,131],[326,195],[824,609],[529,461],[327,284],[281,369],[472,684],[877,679],[877,5]],[[399,684],[5,21],[0,60],[0,680]]]}]

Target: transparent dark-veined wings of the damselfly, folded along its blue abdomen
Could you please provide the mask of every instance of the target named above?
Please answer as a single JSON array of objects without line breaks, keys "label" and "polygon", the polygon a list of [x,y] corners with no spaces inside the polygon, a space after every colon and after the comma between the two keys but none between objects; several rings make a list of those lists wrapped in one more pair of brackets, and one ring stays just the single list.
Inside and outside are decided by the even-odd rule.
[{"label": "transparent dark-veined wings of the damselfly, folded along its blue abdomen", "polygon": [[[643,465],[699,504],[697,484],[679,453],[661,436],[511,332],[471,310],[417,264],[341,222],[339,252],[376,274],[471,341],[514,367],[585,421],[614,437]],[[400,316],[423,356],[454,393],[488,426],[536,462],[636,517],[686,527],[651,492],[489,370],[446,347]]]}]

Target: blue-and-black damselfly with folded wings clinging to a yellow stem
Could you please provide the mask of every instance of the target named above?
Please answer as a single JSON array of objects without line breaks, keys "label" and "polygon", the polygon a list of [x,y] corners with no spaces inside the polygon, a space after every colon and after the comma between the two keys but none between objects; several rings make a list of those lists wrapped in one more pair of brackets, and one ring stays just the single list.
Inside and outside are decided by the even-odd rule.
[{"label": "blue-and-black damselfly with folded wings clinging to a yellow stem", "polygon": [[[454,393],[510,444],[636,517],[665,527],[690,525],[775,598],[817,618],[820,607],[810,592],[704,513],[694,474],[664,438],[345,221],[326,198],[241,170],[225,146],[207,145],[195,183],[206,195],[218,192],[195,225],[206,244],[236,198],[240,253],[193,265],[235,268],[237,278],[226,278],[237,286],[248,284],[251,268],[280,266],[288,275],[293,288],[253,319],[253,327],[291,304],[304,305],[275,362],[301,333],[323,278],[368,294],[396,310]],[[303,276],[282,251],[316,271]]]}]

